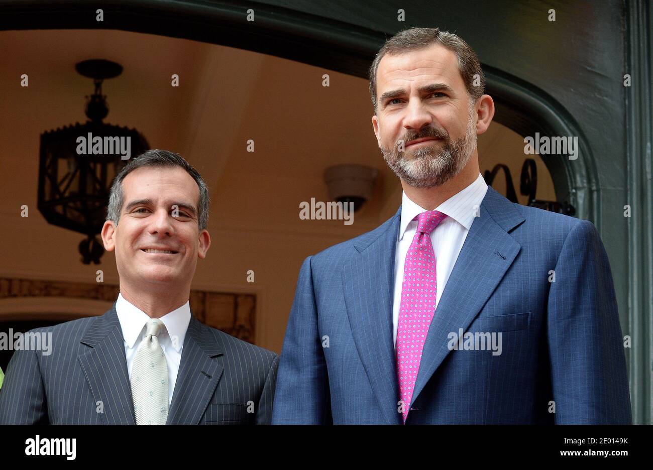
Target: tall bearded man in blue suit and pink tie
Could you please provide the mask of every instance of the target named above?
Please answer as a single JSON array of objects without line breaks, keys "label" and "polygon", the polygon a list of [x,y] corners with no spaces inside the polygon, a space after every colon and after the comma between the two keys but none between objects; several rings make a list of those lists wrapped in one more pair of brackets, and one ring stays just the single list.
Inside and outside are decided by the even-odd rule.
[{"label": "tall bearded man in blue suit and pink tie", "polygon": [[470,46],[402,31],[370,91],[402,206],[302,264],[272,422],[631,422],[597,230],[486,185],[476,136],[494,103]]}]

